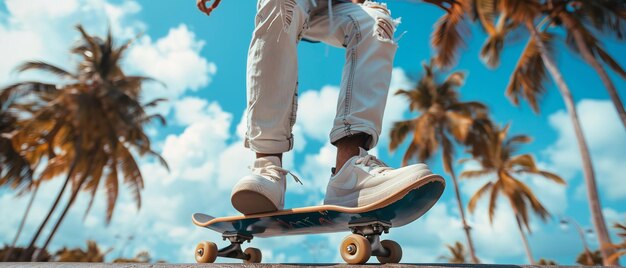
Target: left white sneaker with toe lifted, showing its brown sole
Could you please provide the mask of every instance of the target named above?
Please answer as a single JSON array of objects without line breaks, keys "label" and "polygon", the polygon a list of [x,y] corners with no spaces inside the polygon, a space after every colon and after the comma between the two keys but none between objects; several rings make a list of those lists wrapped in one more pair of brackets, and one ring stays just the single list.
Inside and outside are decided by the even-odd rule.
[{"label": "left white sneaker with toe lifted, showing its brown sole", "polygon": [[241,178],[230,195],[233,207],[243,214],[282,210],[287,174],[302,184],[293,173],[281,167],[276,156],[258,158],[250,169],[252,174]]}]

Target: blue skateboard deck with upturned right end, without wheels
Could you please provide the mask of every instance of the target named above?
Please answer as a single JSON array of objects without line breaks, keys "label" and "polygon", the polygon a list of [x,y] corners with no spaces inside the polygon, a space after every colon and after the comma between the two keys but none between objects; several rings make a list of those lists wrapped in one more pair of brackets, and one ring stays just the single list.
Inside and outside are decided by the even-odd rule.
[{"label": "blue skateboard deck with upturned right end, without wheels", "polygon": [[382,221],[391,227],[411,223],[424,215],[441,197],[445,181],[428,175],[395,194],[364,207],[321,205],[280,210],[270,213],[215,218],[195,213],[195,225],[213,231],[238,233],[251,237],[321,234],[349,231],[356,223]]}]

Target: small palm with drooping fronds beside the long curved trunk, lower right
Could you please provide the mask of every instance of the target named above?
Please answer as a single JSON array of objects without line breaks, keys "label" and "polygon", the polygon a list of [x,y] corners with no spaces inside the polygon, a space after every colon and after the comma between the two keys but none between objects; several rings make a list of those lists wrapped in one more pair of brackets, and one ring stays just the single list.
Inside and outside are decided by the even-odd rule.
[{"label": "small palm with drooping fronds beside the long curved trunk, lower right", "polygon": [[509,200],[513,209],[513,215],[524,243],[526,256],[531,264],[535,264],[530,246],[526,239],[524,229],[531,232],[529,225],[529,208],[542,220],[550,215],[532,190],[524,182],[517,178],[518,175],[538,175],[554,181],[557,184],[565,184],[565,181],[556,174],[540,170],[530,154],[515,155],[518,147],[530,142],[530,137],[517,135],[507,139],[509,126],[503,129],[493,128],[489,135],[489,143],[485,144],[485,150],[480,156],[475,156],[481,164],[479,170],[467,170],[461,173],[461,178],[472,179],[485,176],[494,176],[493,180],[485,183],[470,199],[468,209],[476,210],[478,200],[489,195],[489,221],[493,223],[498,197],[503,195]]}]

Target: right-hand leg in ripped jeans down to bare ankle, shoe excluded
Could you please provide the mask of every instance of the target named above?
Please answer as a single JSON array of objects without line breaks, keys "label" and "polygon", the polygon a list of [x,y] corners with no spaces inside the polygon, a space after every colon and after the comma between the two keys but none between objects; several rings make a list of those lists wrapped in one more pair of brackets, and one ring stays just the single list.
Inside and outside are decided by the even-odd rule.
[{"label": "right-hand leg in ripped jeans down to bare ankle, shoe excluded", "polygon": [[337,146],[338,170],[359,154],[359,148],[369,150],[378,143],[397,50],[393,40],[397,23],[386,5],[372,1],[336,4],[333,11],[333,23],[324,14],[313,17],[305,37],[346,48],[330,134],[331,143]]}]

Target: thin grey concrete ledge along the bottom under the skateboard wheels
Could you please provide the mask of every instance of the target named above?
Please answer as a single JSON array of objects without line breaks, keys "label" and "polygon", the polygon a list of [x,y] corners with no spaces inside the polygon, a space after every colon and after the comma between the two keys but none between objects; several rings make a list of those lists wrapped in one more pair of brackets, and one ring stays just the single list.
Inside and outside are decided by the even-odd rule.
[{"label": "thin grey concrete ledge along the bottom under the skateboard wheels", "polygon": [[[45,263],[0,263],[0,267],[3,268],[61,268],[61,267],[78,267],[78,268],[187,268],[187,267],[266,267],[266,268],[284,268],[284,267],[371,267],[372,265],[347,265],[347,264],[238,264],[238,263],[213,263],[213,264],[142,264],[142,263],[59,263],[59,262],[45,262]],[[507,265],[507,264],[439,264],[439,263],[402,263],[402,264],[386,264],[385,267],[420,267],[420,268],[470,268],[470,267],[490,267],[490,268],[530,268],[530,267],[584,267],[584,266],[540,266],[540,265]],[[615,266],[617,267],[617,266]]]}]

